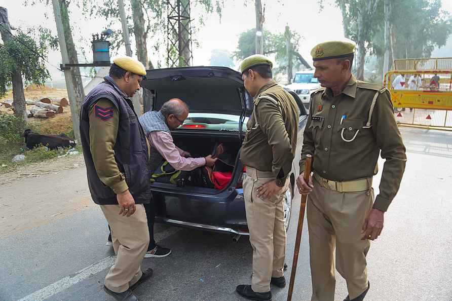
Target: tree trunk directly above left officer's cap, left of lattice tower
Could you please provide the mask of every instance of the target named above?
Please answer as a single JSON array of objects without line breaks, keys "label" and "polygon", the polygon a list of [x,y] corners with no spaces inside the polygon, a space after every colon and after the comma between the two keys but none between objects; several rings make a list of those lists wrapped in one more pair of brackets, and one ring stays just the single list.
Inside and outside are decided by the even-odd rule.
[{"label": "tree trunk directly above left officer's cap, left of lattice tower", "polygon": [[135,33],[136,56],[138,60],[149,69],[149,64],[152,63],[147,57],[147,31],[144,24],[144,14],[140,0],[132,0],[132,16],[133,16],[133,31]]}]

